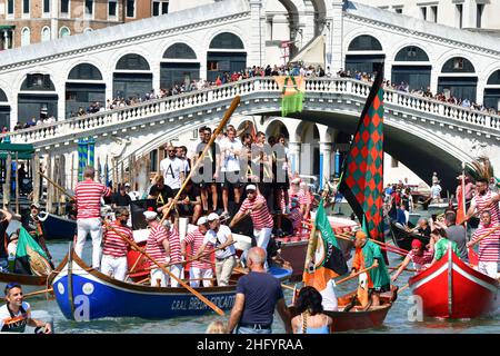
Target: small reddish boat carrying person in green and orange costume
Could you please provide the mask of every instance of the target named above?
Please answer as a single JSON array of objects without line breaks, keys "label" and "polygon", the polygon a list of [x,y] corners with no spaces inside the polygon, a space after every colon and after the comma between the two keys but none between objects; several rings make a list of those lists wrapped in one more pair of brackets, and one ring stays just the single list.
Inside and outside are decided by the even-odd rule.
[{"label": "small reddish boat carrying person in green and orange costume", "polygon": [[[330,333],[371,329],[383,325],[383,320],[386,320],[387,314],[392,307],[391,298],[382,294],[380,306],[371,306],[364,309],[354,305],[352,308],[348,308],[354,296],[356,291],[352,291],[338,297],[338,312],[324,312],[332,318]],[[297,315],[294,306],[290,306],[289,309],[292,316]]]}]

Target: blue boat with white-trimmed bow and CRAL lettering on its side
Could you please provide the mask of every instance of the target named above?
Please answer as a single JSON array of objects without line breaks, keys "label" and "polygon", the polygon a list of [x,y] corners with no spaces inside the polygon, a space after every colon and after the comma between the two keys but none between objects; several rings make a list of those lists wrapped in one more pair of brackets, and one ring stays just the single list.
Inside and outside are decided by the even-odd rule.
[{"label": "blue boat with white-trimmed bow and CRAL lettering on its side", "polygon": [[[164,319],[212,310],[182,287],[151,287],[120,281],[87,266],[74,253],[68,255],[63,263],[51,284],[59,308],[71,320],[104,317]],[[292,273],[280,267],[271,267],[270,271],[280,280],[290,278]],[[234,304],[236,281],[240,276],[233,275],[229,286],[199,287],[196,290],[219,308],[228,310]]]}]

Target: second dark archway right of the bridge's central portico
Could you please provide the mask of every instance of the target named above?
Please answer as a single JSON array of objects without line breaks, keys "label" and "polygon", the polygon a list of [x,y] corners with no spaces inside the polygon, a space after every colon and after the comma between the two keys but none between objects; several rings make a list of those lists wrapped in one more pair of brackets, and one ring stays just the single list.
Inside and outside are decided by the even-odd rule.
[{"label": "second dark archway right of the bridge's central portico", "polygon": [[408,46],[401,49],[392,65],[392,82],[408,83],[410,90],[424,91],[430,87],[432,66],[426,51],[417,46]]}]

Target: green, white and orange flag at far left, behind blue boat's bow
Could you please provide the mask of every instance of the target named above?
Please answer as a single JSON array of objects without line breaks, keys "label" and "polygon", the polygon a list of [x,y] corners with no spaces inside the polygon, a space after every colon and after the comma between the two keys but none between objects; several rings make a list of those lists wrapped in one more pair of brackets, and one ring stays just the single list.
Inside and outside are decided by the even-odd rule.
[{"label": "green, white and orange flag at far left, behind blue boat's bow", "polygon": [[46,251],[22,226],[19,230],[14,266],[17,274],[24,275],[44,276],[52,269]]}]

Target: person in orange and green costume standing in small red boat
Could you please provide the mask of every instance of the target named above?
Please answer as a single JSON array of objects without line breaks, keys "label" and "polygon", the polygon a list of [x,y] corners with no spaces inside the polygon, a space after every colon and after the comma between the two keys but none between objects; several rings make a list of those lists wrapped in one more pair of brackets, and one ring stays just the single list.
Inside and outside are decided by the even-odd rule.
[{"label": "person in orange and green costume standing in small red boat", "polygon": [[[382,251],[379,245],[369,240],[367,234],[361,230],[356,231],[354,238],[356,254],[352,259],[352,274],[374,266],[368,274],[361,274],[360,280],[362,281],[363,278],[367,278],[363,290],[368,291],[368,298],[371,299],[371,306],[379,306],[380,294],[391,290],[390,277],[383,260]],[[361,300],[361,304],[367,306],[369,305],[369,300]]]}]

